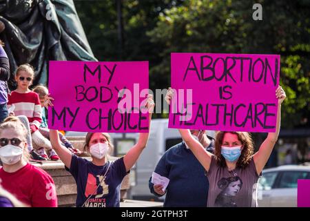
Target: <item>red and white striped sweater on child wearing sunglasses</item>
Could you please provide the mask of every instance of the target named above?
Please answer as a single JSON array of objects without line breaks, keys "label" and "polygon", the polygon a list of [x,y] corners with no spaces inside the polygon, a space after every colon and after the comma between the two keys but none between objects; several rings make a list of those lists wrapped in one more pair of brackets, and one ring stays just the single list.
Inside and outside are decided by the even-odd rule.
[{"label": "red and white striped sweater on child wearing sunglasses", "polygon": [[8,95],[8,108],[14,104],[14,115],[25,115],[30,122],[32,132],[37,131],[42,122],[41,104],[39,95],[30,91],[28,93],[18,93],[12,91]]}]

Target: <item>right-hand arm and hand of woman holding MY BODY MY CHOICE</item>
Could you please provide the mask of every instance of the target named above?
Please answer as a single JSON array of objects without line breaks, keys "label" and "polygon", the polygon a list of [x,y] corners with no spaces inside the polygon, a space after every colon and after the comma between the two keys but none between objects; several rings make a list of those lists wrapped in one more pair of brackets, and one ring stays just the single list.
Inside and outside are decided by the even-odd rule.
[{"label": "right-hand arm and hand of woman holding MY BODY MY CHOICE", "polygon": [[[149,112],[149,131],[151,129],[151,119],[152,119],[152,113],[154,111],[154,101],[152,99],[152,95],[148,95],[147,97],[147,104],[146,108]],[[127,154],[124,156],[124,164],[126,171],[130,171],[132,169],[132,166],[136,163],[138,160],[138,157],[142,153],[143,149],[147,145],[147,140],[149,140],[149,132],[148,133],[140,133],[138,142],[130,148],[130,151],[127,152]]]}]

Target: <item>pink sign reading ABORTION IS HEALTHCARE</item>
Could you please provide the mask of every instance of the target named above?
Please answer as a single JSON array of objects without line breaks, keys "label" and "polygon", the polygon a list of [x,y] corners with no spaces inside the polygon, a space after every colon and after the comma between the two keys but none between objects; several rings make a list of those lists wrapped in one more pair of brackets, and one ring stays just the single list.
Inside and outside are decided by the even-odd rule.
[{"label": "pink sign reading ABORTION IS HEALTHCARE", "polygon": [[169,128],[275,132],[280,55],[172,53]]}]

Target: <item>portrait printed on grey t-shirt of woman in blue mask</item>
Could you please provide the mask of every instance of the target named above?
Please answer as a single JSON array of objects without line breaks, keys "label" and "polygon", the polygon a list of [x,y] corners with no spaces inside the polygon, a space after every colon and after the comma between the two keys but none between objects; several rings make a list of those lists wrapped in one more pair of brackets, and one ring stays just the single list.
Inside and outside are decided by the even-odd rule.
[{"label": "portrait printed on grey t-shirt of woman in blue mask", "polygon": [[216,207],[238,207],[236,196],[242,188],[242,180],[238,176],[222,177],[218,181],[218,188],[221,189],[216,197]]}]

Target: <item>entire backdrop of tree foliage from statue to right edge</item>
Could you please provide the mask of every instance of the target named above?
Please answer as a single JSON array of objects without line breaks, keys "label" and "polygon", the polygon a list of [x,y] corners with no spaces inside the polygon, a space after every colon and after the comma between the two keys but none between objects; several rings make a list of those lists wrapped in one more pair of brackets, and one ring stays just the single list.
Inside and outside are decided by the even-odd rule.
[{"label": "entire backdrop of tree foliage from statue to right edge", "polygon": [[[170,85],[170,52],[280,54],[280,84],[288,97],[282,126],[310,126],[309,0],[122,2],[124,44],[119,50],[116,1],[75,1],[100,61],[149,61],[154,90]],[[254,3],[262,5],[262,21],[252,19]]]}]

